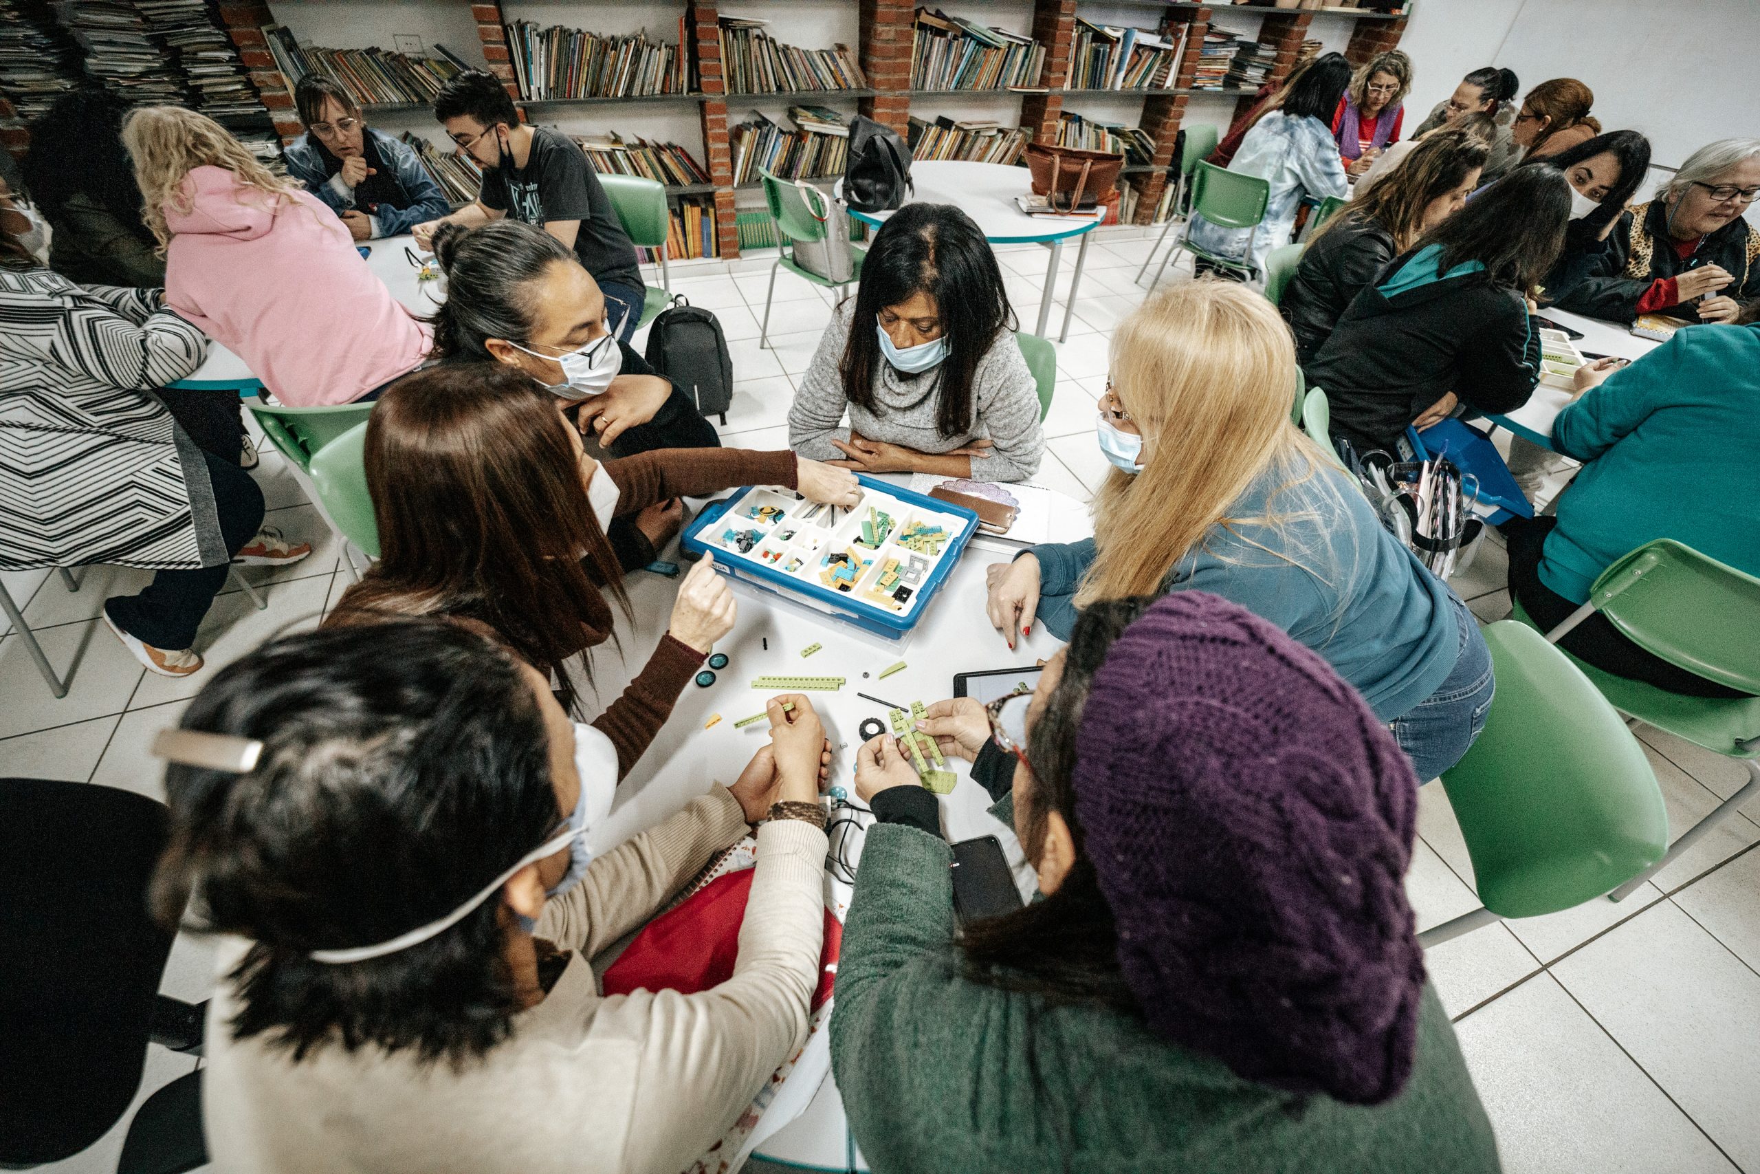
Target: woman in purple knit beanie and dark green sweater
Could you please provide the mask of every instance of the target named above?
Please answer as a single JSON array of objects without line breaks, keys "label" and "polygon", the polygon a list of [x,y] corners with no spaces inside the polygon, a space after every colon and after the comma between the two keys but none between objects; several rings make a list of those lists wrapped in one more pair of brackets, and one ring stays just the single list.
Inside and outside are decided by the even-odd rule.
[{"label": "woman in purple knit beanie and dark green sweater", "polygon": [[1118,598],[1031,695],[954,704],[1042,899],[957,926],[935,796],[861,748],[831,1058],[876,1174],[1500,1169],[1403,889],[1410,764],[1324,660]]}]

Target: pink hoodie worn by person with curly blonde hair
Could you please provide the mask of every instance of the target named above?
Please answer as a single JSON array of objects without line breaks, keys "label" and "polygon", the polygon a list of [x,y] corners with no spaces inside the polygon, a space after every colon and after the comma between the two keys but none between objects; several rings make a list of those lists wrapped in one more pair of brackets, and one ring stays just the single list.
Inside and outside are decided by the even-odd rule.
[{"label": "pink hoodie worn by person with curly blonde hair", "polygon": [[433,333],[380,282],[329,208],[294,192],[269,206],[224,167],[183,181],[165,208],[165,305],[232,350],[282,403],[359,400],[414,370]]}]

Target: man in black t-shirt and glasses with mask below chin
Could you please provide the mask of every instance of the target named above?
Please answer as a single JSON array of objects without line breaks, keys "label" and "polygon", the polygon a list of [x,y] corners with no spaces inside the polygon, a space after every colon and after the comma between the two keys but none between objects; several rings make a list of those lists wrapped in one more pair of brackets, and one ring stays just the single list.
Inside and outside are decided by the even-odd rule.
[{"label": "man in black t-shirt and glasses with mask below chin", "polygon": [[435,97],[435,118],[482,171],[477,201],[412,229],[424,248],[435,227],[479,225],[502,216],[535,224],[574,248],[605,294],[618,338],[628,341],[642,317],[646,289],[611,197],[593,164],[565,136],[519,121],[502,83],[482,70],[452,77]]}]

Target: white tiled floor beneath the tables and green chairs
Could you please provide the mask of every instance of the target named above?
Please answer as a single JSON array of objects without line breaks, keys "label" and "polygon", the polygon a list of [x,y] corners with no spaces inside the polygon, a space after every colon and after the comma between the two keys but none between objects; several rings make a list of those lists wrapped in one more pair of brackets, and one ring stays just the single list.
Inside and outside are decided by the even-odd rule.
[{"label": "white tiled floor beneath the tables and green chairs", "polygon": [[[1031,326],[1044,282],[1044,250],[1001,255],[1016,312]],[[1065,269],[1074,262],[1065,259]],[[1070,338],[1058,345],[1058,391],[1045,421],[1047,454],[1037,482],[1086,498],[1105,473],[1093,444],[1096,396],[1105,387],[1112,326],[1142,292],[1133,285],[1142,245],[1096,245],[1077,296]],[[759,320],[769,275],[690,276],[674,282],[693,305],[716,312],[734,356],[727,444],[787,447],[787,414],[801,371],[829,319],[834,294],[778,276],[771,313],[774,349],[760,349]],[[1176,278],[1169,278],[1176,280]],[[1067,296],[1065,278],[1058,294]],[[1061,322],[1056,306],[1052,329]],[[246,570],[268,597],[253,611],[224,595],[202,625],[209,669],[190,681],[146,676],[97,623],[107,593],[137,590],[139,572],[88,569],[77,593],[40,572],[5,574],[39,627],[51,660],[72,667],[56,701],[16,635],[0,639],[0,771],[127,787],[158,796],[146,755],[151,734],[227,660],[271,634],[315,623],[347,586],[338,551],[280,458],[257,470],[271,521],[319,542],[280,576]],[[1496,539],[1456,579],[1482,620],[1508,614],[1507,558]],[[0,632],[5,632],[0,627]],[[1661,780],[1676,834],[1742,780],[1741,767],[1640,729]],[[1440,785],[1420,792],[1420,841],[1408,892],[1427,928],[1477,908],[1471,862]],[[1760,808],[1760,804],[1755,804]],[[1632,1170],[1760,1174],[1760,810],[1709,836],[1683,862],[1630,899],[1485,926],[1427,954],[1433,980],[1456,1017],[1480,1097],[1512,1174]],[[209,965],[199,942],[180,940],[165,991],[199,1000]],[[190,1060],[153,1049],[143,1097],[190,1070]],[[130,1111],[132,1114],[132,1111]],[[125,1128],[53,1170],[113,1170]],[[1387,1165],[1392,1169],[1392,1165]]]}]

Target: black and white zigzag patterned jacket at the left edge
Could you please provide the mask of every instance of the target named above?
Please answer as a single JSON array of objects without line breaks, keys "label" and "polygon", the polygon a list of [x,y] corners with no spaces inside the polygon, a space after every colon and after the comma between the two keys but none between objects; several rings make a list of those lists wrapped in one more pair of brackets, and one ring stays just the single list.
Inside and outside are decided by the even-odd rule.
[{"label": "black and white zigzag patterned jacket at the left edge", "polygon": [[158,299],[0,268],[0,570],[225,561],[208,465],[153,396],[208,338]]}]

